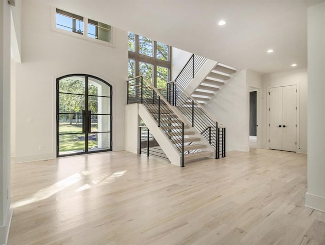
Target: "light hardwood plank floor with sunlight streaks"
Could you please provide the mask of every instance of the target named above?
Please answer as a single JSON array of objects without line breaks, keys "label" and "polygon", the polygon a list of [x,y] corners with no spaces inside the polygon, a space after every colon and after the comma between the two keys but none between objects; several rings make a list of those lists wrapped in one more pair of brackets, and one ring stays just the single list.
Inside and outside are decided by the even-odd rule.
[{"label": "light hardwood plank floor with sunlight streaks", "polygon": [[184,168],[125,151],[12,166],[9,244],[325,244],[304,154],[228,152]]}]

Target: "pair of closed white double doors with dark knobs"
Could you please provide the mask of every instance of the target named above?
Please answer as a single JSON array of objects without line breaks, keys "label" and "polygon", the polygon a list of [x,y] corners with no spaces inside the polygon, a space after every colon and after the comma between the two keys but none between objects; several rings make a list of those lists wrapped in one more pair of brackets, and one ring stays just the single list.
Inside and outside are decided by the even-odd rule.
[{"label": "pair of closed white double doors with dark knobs", "polygon": [[296,151],[297,86],[270,88],[269,148]]}]

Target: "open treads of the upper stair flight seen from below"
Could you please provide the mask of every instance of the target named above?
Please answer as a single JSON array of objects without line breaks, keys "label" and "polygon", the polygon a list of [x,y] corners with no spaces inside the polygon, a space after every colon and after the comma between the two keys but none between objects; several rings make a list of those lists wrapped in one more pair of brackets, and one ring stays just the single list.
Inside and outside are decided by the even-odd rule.
[{"label": "open treads of the upper stair flight seen from below", "polygon": [[205,106],[216,94],[216,92],[226,83],[226,80],[232,77],[231,74],[236,73],[236,69],[217,63],[212,71],[191,93],[201,106]]}]

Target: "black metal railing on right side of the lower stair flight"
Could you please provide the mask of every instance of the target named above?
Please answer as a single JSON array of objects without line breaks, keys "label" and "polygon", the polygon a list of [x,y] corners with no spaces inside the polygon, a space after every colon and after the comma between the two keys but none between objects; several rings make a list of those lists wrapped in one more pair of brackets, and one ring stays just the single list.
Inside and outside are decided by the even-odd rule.
[{"label": "black metal railing on right side of the lower stair flight", "polygon": [[186,93],[175,81],[168,83],[167,90],[170,104],[191,122],[192,127],[201,132],[201,135],[215,149],[215,158],[220,157],[220,149],[221,156],[225,157],[225,127],[219,127],[218,120],[202,108],[200,103]]}]

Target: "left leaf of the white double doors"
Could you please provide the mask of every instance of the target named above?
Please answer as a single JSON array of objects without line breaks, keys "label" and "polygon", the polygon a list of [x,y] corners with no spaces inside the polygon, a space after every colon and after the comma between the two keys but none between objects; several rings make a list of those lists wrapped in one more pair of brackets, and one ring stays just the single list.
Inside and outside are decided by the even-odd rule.
[{"label": "left leaf of the white double doors", "polygon": [[269,148],[282,150],[282,87],[270,89]]}]

